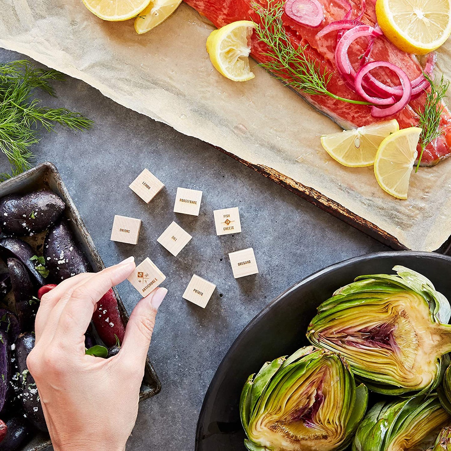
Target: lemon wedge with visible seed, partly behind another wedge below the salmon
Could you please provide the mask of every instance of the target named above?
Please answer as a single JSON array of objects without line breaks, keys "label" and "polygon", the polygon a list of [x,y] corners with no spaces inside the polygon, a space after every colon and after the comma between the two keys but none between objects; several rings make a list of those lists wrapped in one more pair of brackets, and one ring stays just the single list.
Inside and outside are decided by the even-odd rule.
[{"label": "lemon wedge with visible seed, partly behind another wedge below the salmon", "polygon": [[324,150],[344,166],[371,166],[377,148],[390,133],[399,130],[396,119],[365,125],[359,129],[344,130],[321,137]]}]

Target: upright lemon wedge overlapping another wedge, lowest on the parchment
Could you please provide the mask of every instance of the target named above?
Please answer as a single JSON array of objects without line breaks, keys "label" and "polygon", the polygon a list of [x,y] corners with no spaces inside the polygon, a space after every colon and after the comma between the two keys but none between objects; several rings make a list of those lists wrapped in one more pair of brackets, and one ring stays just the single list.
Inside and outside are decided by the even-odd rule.
[{"label": "upright lemon wedge overlapping another wedge, lowest on the parchment", "polygon": [[387,136],[377,150],[374,161],[377,183],[396,198],[407,199],[420,133],[419,127],[399,130]]}]

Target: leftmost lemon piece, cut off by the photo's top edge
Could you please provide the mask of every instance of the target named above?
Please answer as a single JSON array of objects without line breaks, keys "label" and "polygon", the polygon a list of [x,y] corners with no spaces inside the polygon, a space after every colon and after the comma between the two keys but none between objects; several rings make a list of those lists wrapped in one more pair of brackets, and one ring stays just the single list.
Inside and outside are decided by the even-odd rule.
[{"label": "leftmost lemon piece, cut off by the photo's top edge", "polygon": [[84,5],[97,17],[117,22],[139,14],[150,0],[83,0]]}]

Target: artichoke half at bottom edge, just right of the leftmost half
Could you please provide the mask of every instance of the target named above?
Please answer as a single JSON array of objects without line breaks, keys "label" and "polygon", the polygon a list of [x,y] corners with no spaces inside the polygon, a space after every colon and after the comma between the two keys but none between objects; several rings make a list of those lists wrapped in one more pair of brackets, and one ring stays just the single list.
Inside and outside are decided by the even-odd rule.
[{"label": "artichoke half at bottom edge, just right of the leftmost half", "polygon": [[360,423],[352,450],[425,450],[433,446],[440,429],[450,419],[436,394],[378,402]]}]

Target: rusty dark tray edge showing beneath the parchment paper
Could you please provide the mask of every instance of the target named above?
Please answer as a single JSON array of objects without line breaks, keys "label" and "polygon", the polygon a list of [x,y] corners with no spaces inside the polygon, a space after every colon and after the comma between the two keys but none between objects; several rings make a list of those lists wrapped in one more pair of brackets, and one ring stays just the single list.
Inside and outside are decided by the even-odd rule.
[{"label": "rusty dark tray edge showing beneath the parchment paper", "polygon": [[357,230],[364,232],[366,235],[374,239],[377,239],[382,244],[386,244],[387,246],[391,247],[391,249],[410,250],[406,248],[403,244],[401,244],[398,241],[398,239],[396,239],[393,235],[390,235],[386,231],[382,230],[381,228],[377,227],[375,224],[373,224],[370,221],[367,221],[361,216],[356,215],[347,208],[343,207],[343,205],[341,205],[340,203],[335,202],[334,200],[328,198],[327,196],[320,193],[316,189],[303,185],[302,183],[297,182],[295,179],[292,179],[287,175],[281,174],[277,170],[272,169],[268,166],[253,164],[250,161],[244,160],[243,158],[240,158],[239,156],[236,156],[231,152],[227,152],[221,147],[217,146],[212,147],[215,147],[215,149],[232,157],[234,160],[243,163],[245,166],[248,166],[249,168],[255,170],[259,174],[264,175],[267,179],[276,182],[276,184],[283,186],[285,189],[288,189],[292,193],[295,193],[300,198],[305,199],[306,201],[321,208],[322,210],[331,214],[332,216],[337,217],[346,224],[349,224],[350,226],[353,226]]}]

